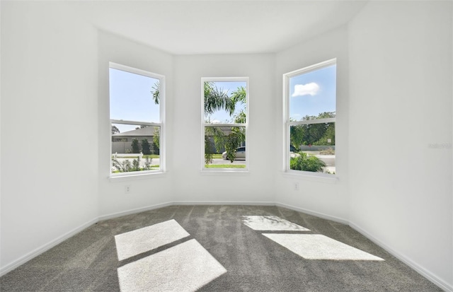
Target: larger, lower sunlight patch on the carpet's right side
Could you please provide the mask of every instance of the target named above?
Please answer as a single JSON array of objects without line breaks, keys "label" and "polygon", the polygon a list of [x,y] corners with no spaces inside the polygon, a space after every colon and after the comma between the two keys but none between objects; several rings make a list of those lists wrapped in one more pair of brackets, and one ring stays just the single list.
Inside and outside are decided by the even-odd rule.
[{"label": "larger, lower sunlight patch on the carpet's right side", "polygon": [[305,259],[384,260],[321,234],[263,233],[263,235]]}]

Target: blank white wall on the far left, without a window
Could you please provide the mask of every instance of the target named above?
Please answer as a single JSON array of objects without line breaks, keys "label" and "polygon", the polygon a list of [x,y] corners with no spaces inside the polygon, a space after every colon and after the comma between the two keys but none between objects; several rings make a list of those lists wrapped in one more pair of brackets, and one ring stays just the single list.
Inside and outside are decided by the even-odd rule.
[{"label": "blank white wall on the far left, without a window", "polygon": [[96,30],[1,2],[1,271],[98,214]]}]

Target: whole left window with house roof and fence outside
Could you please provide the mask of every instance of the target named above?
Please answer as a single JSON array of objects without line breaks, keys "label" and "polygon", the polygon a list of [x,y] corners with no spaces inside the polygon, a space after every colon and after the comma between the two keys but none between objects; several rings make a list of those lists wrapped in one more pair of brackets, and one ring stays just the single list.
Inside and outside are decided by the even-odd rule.
[{"label": "whole left window with house roof and fence outside", "polygon": [[165,170],[165,78],[110,62],[112,176]]}]

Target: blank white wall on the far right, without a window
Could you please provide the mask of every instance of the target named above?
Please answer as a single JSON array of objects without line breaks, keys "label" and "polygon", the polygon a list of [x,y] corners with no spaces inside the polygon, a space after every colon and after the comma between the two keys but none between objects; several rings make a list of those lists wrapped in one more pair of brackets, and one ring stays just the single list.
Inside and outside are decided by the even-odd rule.
[{"label": "blank white wall on the far right, without a window", "polygon": [[349,28],[350,221],[453,291],[452,2],[372,1]]}]

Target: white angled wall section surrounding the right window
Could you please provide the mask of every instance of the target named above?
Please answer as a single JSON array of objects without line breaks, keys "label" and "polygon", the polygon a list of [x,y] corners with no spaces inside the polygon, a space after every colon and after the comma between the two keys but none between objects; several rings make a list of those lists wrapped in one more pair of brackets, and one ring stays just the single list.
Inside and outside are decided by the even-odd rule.
[{"label": "white angled wall section surrounding the right window", "polygon": [[[283,173],[282,75],[328,59],[337,58],[336,176],[319,180]],[[277,54],[275,124],[277,160],[276,202],[337,221],[348,221],[348,30],[338,28]],[[299,190],[294,190],[294,183]]]}]

